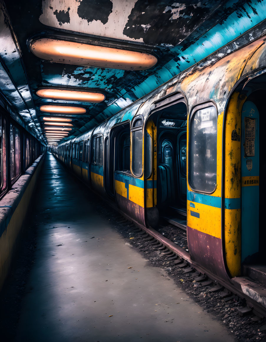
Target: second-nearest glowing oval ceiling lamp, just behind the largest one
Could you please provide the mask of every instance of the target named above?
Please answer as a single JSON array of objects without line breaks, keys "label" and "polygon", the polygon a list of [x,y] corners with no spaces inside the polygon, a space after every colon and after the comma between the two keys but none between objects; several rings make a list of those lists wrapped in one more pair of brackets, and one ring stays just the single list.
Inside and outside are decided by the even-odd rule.
[{"label": "second-nearest glowing oval ceiling lamp, just behind the largest one", "polygon": [[39,89],[36,94],[51,100],[81,101],[99,103],[105,99],[102,93],[88,91],[63,90],[63,89]]}]

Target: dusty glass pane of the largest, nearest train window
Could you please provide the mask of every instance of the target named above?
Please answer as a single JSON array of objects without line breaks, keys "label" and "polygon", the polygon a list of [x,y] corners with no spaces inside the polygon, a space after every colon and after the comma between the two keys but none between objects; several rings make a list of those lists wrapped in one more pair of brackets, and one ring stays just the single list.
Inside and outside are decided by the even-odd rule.
[{"label": "dusty glass pane of the largest, nearest train window", "polygon": [[216,187],[217,110],[196,110],[190,120],[189,181],[191,188],[211,193]]}]

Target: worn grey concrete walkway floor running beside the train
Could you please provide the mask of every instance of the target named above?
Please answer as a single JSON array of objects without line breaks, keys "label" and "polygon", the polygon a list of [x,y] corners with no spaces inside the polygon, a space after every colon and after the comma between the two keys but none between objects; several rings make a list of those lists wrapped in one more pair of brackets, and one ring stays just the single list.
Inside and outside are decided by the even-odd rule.
[{"label": "worn grey concrete walkway floor running beside the train", "polygon": [[43,167],[17,342],[234,341],[95,214],[95,195],[50,153]]}]

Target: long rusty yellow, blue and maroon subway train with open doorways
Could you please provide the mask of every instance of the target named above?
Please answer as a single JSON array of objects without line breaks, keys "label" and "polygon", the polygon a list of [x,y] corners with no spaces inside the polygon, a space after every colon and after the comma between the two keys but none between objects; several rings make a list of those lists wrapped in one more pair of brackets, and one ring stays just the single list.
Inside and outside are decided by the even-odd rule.
[{"label": "long rusty yellow, blue and maroon subway train with open doorways", "polygon": [[52,152],[137,225],[187,231],[218,279],[265,265],[266,36],[231,42]]}]

